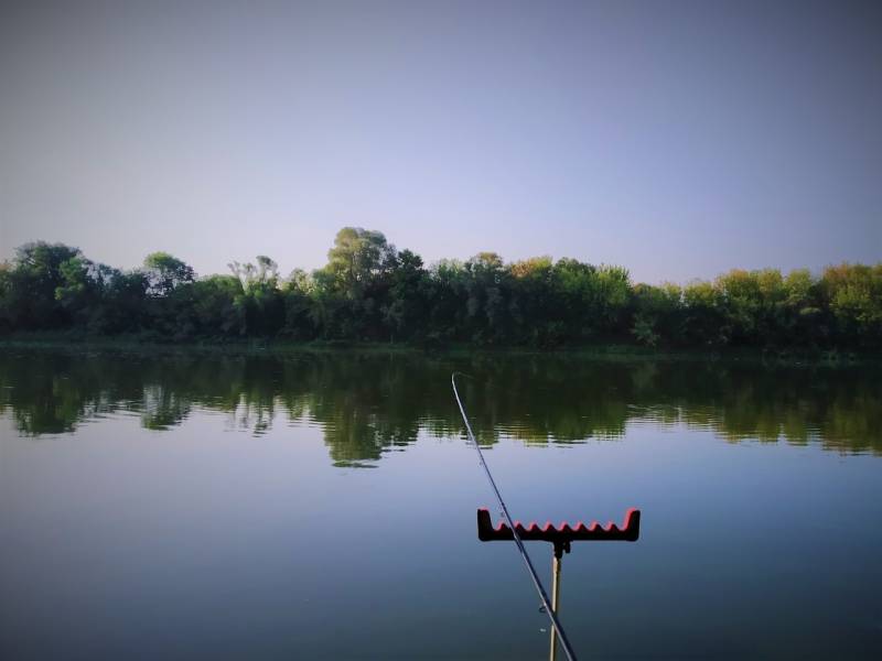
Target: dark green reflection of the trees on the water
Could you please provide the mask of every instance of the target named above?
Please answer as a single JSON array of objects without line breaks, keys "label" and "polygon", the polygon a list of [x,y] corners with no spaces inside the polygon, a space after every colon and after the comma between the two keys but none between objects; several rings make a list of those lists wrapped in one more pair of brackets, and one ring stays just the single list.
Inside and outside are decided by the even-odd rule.
[{"label": "dark green reflection of the trees on the water", "polygon": [[416,354],[271,356],[0,354],[0,410],[22,435],[64,434],[131,412],[152,430],[194,410],[226,412],[260,434],[316,424],[338,466],[374,465],[390,448],[461,433],[450,391],[463,379],[482,443],[621,437],[630,423],[685,424],[732,442],[817,442],[882,454],[878,366],[768,367],[756,362],[599,361],[572,356]]}]

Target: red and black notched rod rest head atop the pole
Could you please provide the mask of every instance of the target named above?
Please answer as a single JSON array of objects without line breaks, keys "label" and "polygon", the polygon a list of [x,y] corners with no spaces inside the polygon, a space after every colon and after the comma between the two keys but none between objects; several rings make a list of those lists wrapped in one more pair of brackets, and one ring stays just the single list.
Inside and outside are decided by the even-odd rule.
[{"label": "red and black notched rod rest head atop the pole", "polygon": [[[536,523],[524,527],[520,521],[515,521],[515,529],[525,542],[551,542],[556,550],[562,549],[567,552],[570,550],[570,542],[636,542],[641,535],[641,510],[634,508],[627,510],[622,528],[612,521],[606,525],[601,525],[596,521],[585,525],[579,521],[574,527],[564,521],[559,528],[555,528],[550,521],[542,528]],[[482,507],[477,510],[477,539],[482,542],[510,541],[515,535],[505,521],[494,528],[490,520],[490,511]]]}]

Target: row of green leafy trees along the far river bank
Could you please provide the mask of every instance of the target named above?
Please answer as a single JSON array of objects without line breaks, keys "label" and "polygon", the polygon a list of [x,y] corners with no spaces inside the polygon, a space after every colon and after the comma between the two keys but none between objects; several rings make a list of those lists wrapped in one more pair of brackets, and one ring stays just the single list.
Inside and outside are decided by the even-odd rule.
[{"label": "row of green leafy trees along the far river bank", "polygon": [[327,263],[288,277],[266,256],[197,278],[166,253],[123,271],[63,243],[0,264],[0,333],[144,339],[279,338],[426,346],[882,348],[882,262],[735,269],[686,285],[631,282],[617,266],[495,252],[427,267],[379,231],[346,227]]}]

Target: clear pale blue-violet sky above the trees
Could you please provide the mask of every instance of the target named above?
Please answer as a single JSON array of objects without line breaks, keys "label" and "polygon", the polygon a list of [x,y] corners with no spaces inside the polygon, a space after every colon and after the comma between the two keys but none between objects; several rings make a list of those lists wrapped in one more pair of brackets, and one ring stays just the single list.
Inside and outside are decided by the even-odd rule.
[{"label": "clear pale blue-violet sky above the trees", "polygon": [[[185,7],[184,7],[185,6]],[[882,259],[882,2],[3,2],[0,257]]]}]

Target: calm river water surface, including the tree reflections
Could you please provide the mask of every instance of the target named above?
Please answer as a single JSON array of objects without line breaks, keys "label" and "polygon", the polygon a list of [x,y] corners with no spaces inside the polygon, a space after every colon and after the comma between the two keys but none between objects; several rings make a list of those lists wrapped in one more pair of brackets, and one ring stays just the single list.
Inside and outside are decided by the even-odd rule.
[{"label": "calm river water surface, including the tree reflections", "polygon": [[453,369],[516,518],[643,510],[564,556],[581,658],[882,658],[878,367],[12,350],[0,657],[546,657]]}]

